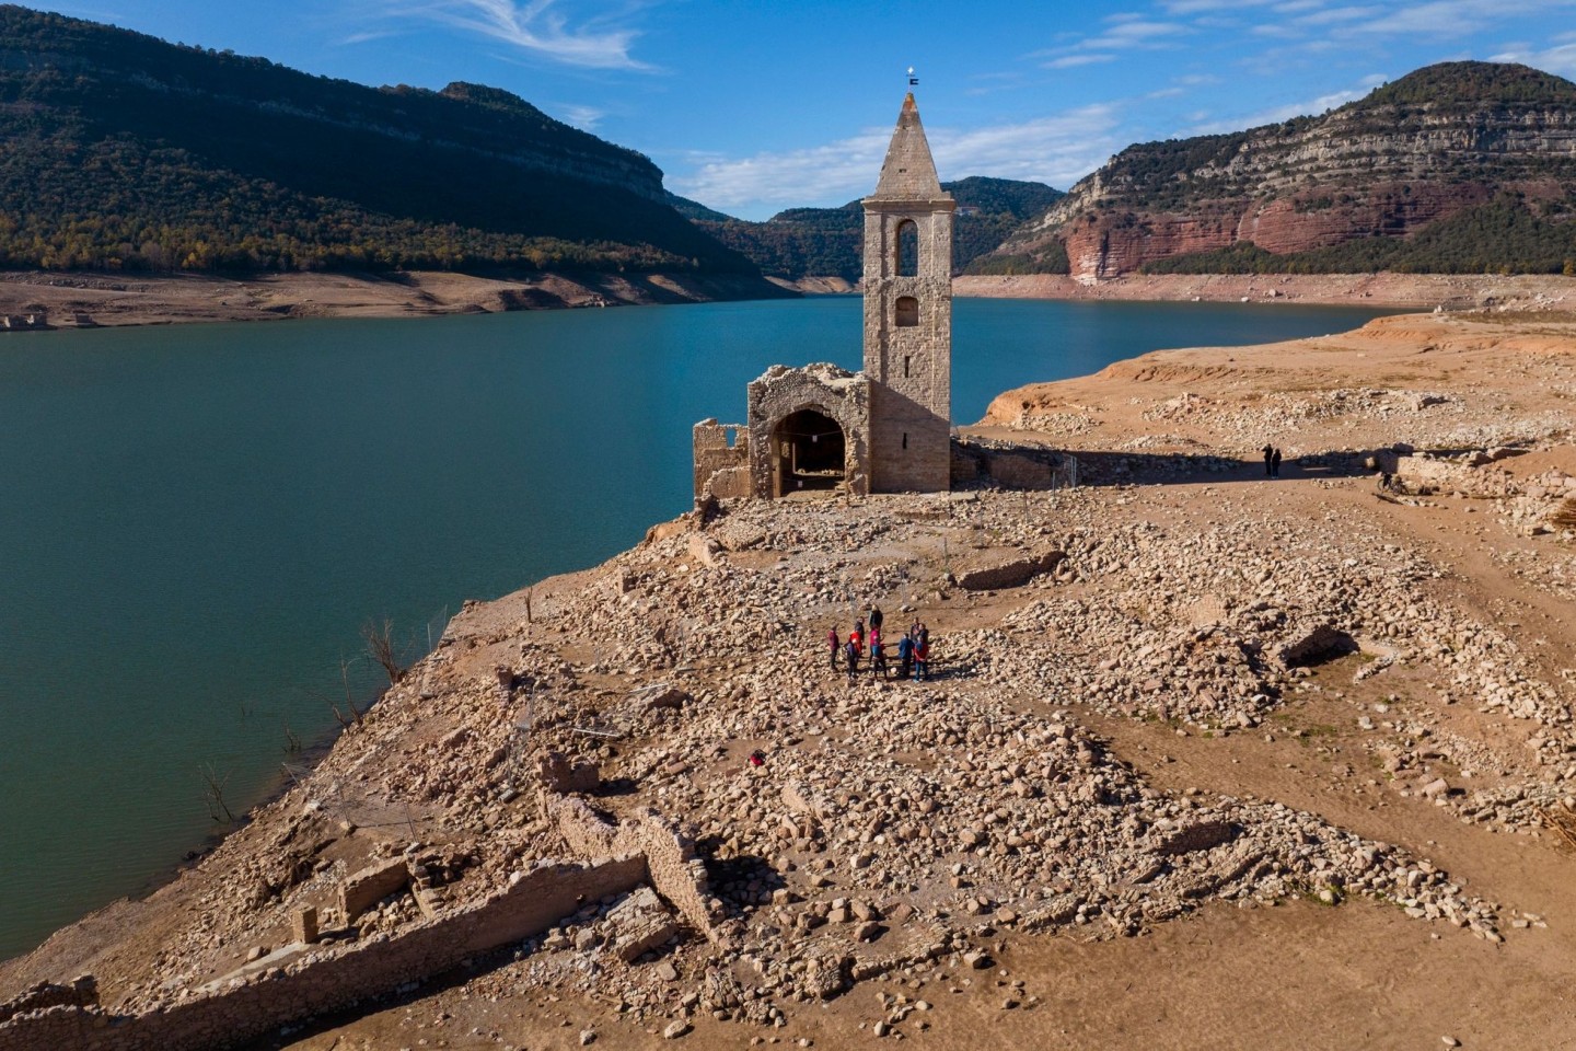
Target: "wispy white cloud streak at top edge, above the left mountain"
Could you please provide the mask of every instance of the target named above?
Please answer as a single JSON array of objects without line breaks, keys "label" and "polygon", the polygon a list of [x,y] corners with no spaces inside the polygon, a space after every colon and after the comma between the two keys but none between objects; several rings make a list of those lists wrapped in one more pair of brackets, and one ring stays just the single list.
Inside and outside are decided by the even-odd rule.
[{"label": "wispy white cloud streak at top edge, above the left mountain", "polygon": [[[637,33],[586,19],[571,25],[555,0],[400,0],[383,22],[430,22],[511,44],[541,58],[594,69],[649,69],[629,52]],[[359,35],[366,36],[366,35]]]}]

